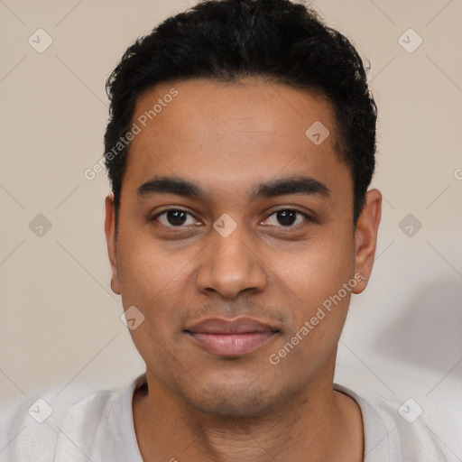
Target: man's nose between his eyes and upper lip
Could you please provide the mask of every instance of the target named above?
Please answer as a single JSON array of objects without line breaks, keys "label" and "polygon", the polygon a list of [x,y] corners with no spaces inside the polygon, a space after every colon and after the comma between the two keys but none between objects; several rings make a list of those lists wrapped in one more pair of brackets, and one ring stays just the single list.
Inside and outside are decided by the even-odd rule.
[{"label": "man's nose between his eyes and upper lip", "polygon": [[255,245],[245,238],[244,226],[229,236],[211,230],[199,259],[196,283],[201,292],[217,292],[227,299],[242,291],[264,291],[267,275]]}]

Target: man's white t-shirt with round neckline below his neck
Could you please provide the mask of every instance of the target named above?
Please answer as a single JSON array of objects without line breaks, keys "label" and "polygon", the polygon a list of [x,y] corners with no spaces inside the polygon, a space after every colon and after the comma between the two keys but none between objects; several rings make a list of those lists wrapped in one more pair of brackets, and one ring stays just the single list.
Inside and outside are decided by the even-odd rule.
[{"label": "man's white t-shirt with round neckline below his neck", "polygon": [[[121,391],[75,392],[49,389],[0,412],[1,462],[143,462],[133,419],[134,390],[146,382],[141,374]],[[365,431],[365,462],[445,462],[438,442],[412,403],[398,413],[399,403],[366,402],[346,387],[359,404]],[[38,400],[38,401],[37,401]],[[42,423],[41,423],[42,421]],[[181,460],[180,454],[172,455]]]}]

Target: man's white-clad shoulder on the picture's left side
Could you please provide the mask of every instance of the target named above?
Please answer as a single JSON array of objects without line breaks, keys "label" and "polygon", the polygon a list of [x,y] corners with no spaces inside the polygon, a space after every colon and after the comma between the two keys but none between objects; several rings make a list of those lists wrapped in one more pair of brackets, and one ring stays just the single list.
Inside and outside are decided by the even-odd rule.
[{"label": "man's white-clad shoulder on the picture's left side", "polygon": [[61,393],[58,387],[52,387],[25,396],[0,411],[0,460],[53,460],[64,439],[79,448],[80,455],[75,460],[80,460],[104,432],[111,405],[119,393],[74,386]]}]

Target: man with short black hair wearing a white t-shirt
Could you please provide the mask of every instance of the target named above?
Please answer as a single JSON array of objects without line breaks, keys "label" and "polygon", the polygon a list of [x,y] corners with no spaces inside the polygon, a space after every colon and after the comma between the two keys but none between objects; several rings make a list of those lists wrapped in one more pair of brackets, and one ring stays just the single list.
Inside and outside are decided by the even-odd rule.
[{"label": "man with short black hair wearing a white t-shirt", "polygon": [[207,1],[107,89],[111,288],[146,373],[62,403],[58,431],[12,408],[6,460],[442,460],[394,403],[333,383],[381,215],[351,43],[288,0]]}]

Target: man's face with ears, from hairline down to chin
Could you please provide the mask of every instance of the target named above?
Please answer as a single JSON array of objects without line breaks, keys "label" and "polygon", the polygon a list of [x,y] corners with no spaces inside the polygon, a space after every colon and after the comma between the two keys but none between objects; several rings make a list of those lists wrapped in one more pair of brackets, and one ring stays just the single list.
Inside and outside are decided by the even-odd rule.
[{"label": "man's face with ears, from hairline down to chin", "polygon": [[[331,383],[351,294],[372,268],[380,193],[355,231],[328,101],[190,80],[144,93],[133,120],[118,236],[111,196],[106,236],[112,288],[144,316],[130,332],[148,381],[233,416]],[[306,134],[319,122],[324,141],[321,125]]]}]

